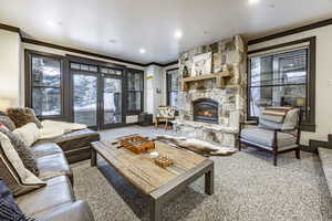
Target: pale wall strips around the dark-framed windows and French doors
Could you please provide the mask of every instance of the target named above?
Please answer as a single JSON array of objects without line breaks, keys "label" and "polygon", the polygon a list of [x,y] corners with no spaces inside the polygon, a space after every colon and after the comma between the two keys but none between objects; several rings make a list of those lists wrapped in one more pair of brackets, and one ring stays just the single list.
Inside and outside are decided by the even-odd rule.
[{"label": "pale wall strips around the dark-framed windows and French doors", "polygon": [[[87,55],[84,55],[84,54],[72,53],[72,52],[68,52],[68,51],[63,51],[63,50],[58,50],[58,49],[52,49],[52,48],[46,48],[46,46],[40,46],[40,45],[35,45],[35,44],[30,44],[30,43],[23,43],[22,44],[22,50],[21,50],[21,69],[22,70],[24,70],[24,50],[25,49],[33,50],[33,51],[39,51],[39,52],[46,52],[46,53],[63,55],[63,56],[65,56],[66,54],[70,54],[70,55],[92,59],[92,60],[96,60],[96,61],[103,61],[103,62],[110,62],[110,63],[114,63],[114,64],[121,64],[121,65],[125,65],[126,67],[129,67],[129,69],[136,69],[136,70],[145,71],[144,66],[132,65],[132,64],[127,64],[127,63],[122,63],[122,62],[116,62],[116,61],[105,60],[105,59],[100,59],[100,57],[94,57],[94,56],[87,56]],[[144,77],[144,78],[146,78],[146,77]],[[23,103],[23,101],[24,101],[24,72],[21,73],[20,88],[21,88],[20,97],[22,99],[21,105],[24,105],[24,103]],[[146,94],[144,95],[144,97],[146,97]],[[137,115],[126,116],[126,123],[127,124],[137,123],[137,122],[138,122]]]}]

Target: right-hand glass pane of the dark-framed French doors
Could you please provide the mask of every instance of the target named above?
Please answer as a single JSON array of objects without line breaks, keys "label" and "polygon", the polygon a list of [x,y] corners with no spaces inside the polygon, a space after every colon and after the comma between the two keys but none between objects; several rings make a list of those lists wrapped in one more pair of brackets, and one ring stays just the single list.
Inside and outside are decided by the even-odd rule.
[{"label": "right-hand glass pane of the dark-framed French doors", "polygon": [[104,77],[103,82],[103,125],[122,124],[122,80]]}]

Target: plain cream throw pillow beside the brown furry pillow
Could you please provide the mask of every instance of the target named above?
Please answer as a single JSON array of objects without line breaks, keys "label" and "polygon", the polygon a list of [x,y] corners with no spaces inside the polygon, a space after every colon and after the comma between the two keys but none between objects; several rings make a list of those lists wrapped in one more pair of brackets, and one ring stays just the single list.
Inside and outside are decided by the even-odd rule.
[{"label": "plain cream throw pillow beside the brown furry pillow", "polygon": [[31,147],[41,136],[40,129],[34,123],[29,123],[12,131],[17,135],[28,147]]}]

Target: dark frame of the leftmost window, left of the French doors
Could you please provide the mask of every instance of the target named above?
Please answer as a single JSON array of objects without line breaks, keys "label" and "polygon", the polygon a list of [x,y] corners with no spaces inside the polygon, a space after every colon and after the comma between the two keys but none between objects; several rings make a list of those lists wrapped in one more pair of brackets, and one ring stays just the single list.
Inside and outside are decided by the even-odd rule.
[{"label": "dark frame of the leftmost window, left of the French doors", "polygon": [[[32,50],[24,50],[24,63],[25,63],[25,78],[24,78],[24,102],[25,106],[33,108],[33,88],[38,88],[33,86],[32,82],[32,57],[48,57],[53,60],[59,60],[60,62],[60,114],[59,115],[38,115],[37,117],[40,119],[52,119],[52,118],[65,118],[65,57],[58,54],[51,54],[46,52],[39,52],[39,51],[32,51]],[[51,86],[45,86],[44,88],[52,88]],[[58,87],[56,87],[58,88]]]}]

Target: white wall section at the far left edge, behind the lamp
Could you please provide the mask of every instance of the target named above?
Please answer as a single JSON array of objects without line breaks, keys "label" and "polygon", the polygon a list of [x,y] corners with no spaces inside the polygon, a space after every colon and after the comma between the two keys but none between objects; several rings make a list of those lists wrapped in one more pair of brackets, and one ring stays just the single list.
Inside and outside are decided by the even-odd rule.
[{"label": "white wall section at the far left edge, behind the lamp", "polygon": [[0,30],[0,98],[11,99],[11,105],[20,103],[20,35]]}]

